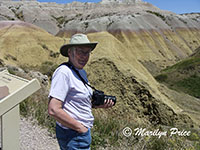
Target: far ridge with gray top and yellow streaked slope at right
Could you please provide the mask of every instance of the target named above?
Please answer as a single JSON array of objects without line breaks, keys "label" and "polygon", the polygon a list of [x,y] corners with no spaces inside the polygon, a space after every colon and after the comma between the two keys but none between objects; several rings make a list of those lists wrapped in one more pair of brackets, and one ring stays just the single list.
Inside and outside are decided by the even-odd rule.
[{"label": "far ridge with gray top and yellow streaked slope at right", "polygon": [[132,49],[152,74],[189,56],[200,44],[199,13],[177,15],[141,0],[1,1],[0,7],[0,20],[25,21],[59,37],[108,32]]}]

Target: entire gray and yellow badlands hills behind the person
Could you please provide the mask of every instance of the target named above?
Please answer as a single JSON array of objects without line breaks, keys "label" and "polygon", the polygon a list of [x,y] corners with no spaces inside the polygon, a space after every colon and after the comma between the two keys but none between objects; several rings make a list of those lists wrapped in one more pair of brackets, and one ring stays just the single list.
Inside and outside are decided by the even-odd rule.
[{"label": "entire gray and yellow badlands hills behind the person", "polygon": [[86,67],[90,83],[117,96],[113,109],[94,110],[95,116],[199,128],[200,100],[168,89],[154,76],[200,46],[200,13],[178,15],[141,0],[1,0],[0,20],[2,66],[36,67],[47,61],[58,65],[66,61],[60,46],[72,34],[85,33],[99,42]]}]

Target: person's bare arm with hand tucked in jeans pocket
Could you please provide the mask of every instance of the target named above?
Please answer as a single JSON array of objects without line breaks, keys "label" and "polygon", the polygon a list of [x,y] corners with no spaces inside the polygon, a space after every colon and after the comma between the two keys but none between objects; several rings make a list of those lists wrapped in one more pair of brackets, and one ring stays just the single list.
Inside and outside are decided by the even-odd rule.
[{"label": "person's bare arm with hand tucked in jeans pocket", "polygon": [[83,124],[67,114],[67,112],[62,109],[62,105],[62,101],[56,98],[51,98],[48,105],[49,115],[55,118],[63,126],[76,130],[79,133],[87,132],[88,129]]}]

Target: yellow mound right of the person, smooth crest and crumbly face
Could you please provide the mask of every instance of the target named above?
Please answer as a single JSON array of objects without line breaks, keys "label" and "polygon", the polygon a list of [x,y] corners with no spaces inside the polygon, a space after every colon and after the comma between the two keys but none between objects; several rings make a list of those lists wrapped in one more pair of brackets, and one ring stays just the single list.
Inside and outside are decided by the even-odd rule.
[{"label": "yellow mound right of the person, smooth crest and crumbly face", "polygon": [[[148,112],[152,113],[146,116],[149,117],[148,119],[154,116],[156,109],[156,112],[165,110],[163,112],[165,115],[156,115],[157,117],[162,116],[163,119],[170,118],[168,111],[171,111],[173,117],[183,112],[171,99],[175,97],[169,98],[168,93],[162,91],[162,86],[154,80],[148,70],[137,59],[134,59],[131,53],[126,52],[126,47],[115,37],[108,33],[89,34],[89,37],[99,41],[88,65],[89,79],[91,78],[91,83],[99,86],[102,90],[108,90],[108,93],[111,92],[114,95],[117,94],[119,97],[119,105],[117,106],[121,105],[122,110],[132,110],[146,115]],[[160,105],[156,104],[157,102]],[[130,106],[123,108],[128,106],[127,104]],[[118,107],[116,109],[120,110]],[[173,120],[169,118],[167,120]],[[157,122],[162,119],[155,120]]]}]

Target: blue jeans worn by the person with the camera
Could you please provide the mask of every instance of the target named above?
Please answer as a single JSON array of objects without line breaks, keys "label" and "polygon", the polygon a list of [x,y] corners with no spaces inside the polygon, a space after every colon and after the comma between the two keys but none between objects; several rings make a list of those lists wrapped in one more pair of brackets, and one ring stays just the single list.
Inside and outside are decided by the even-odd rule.
[{"label": "blue jeans worn by the person with the camera", "polygon": [[72,129],[63,129],[56,124],[56,137],[60,150],[90,150],[90,128],[86,133],[79,133]]}]

